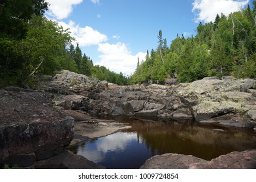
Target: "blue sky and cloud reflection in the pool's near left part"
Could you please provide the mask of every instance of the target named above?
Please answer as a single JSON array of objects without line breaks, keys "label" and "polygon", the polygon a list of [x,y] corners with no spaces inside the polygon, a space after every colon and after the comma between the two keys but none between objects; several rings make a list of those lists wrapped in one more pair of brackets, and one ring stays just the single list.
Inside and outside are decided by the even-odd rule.
[{"label": "blue sky and cloud reflection in the pool's near left part", "polygon": [[[136,133],[118,132],[78,146],[77,153],[106,168],[139,168],[152,157]],[[142,156],[143,155],[143,156]]]}]

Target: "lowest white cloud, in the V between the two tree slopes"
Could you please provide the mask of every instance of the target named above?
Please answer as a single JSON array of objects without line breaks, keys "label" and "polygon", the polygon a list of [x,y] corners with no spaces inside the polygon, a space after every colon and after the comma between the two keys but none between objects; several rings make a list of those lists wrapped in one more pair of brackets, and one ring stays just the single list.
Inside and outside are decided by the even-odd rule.
[{"label": "lowest white cloud, in the V between the two tree slopes", "polygon": [[99,56],[100,61],[97,62],[100,66],[105,66],[111,71],[116,73],[125,73],[130,75],[135,72],[138,57],[140,62],[145,60],[146,53],[137,53],[132,55],[127,45],[118,42],[117,44],[99,44],[98,51],[101,53]]}]

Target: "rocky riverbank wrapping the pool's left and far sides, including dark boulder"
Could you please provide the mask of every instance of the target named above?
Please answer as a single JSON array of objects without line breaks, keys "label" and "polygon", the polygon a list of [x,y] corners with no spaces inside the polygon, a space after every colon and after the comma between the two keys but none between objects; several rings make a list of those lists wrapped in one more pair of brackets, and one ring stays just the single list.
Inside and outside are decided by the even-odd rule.
[{"label": "rocky riverbank wrapping the pool's left and far sides, including dark boulder", "polygon": [[130,127],[93,118],[95,115],[217,122],[256,130],[253,79],[210,77],[172,86],[108,86],[104,81],[64,70],[55,77],[41,77],[38,82],[33,90],[1,90],[2,165],[31,166],[59,155],[84,138]]}]

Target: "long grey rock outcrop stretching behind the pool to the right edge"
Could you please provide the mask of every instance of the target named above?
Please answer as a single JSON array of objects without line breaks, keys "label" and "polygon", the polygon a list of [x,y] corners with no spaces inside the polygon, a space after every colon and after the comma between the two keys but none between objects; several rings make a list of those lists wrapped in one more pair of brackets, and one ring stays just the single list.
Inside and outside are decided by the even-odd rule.
[{"label": "long grey rock outcrop stretching behind the pool to the right edge", "polygon": [[218,122],[253,129],[256,128],[255,84],[254,79],[206,77],[171,86],[107,86],[97,79],[64,70],[40,90],[62,93],[52,99],[60,110]]}]

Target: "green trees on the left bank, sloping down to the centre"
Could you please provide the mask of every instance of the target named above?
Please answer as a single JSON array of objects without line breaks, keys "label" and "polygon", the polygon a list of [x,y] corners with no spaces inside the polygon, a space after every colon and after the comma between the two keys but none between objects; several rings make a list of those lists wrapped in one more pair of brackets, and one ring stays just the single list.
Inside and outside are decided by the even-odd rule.
[{"label": "green trees on the left bank, sloping down to the centre", "polygon": [[0,2],[0,87],[32,85],[35,75],[54,75],[59,70],[97,77],[119,85],[127,84],[123,73],[94,66],[82,55],[69,29],[44,17],[44,0]]}]

